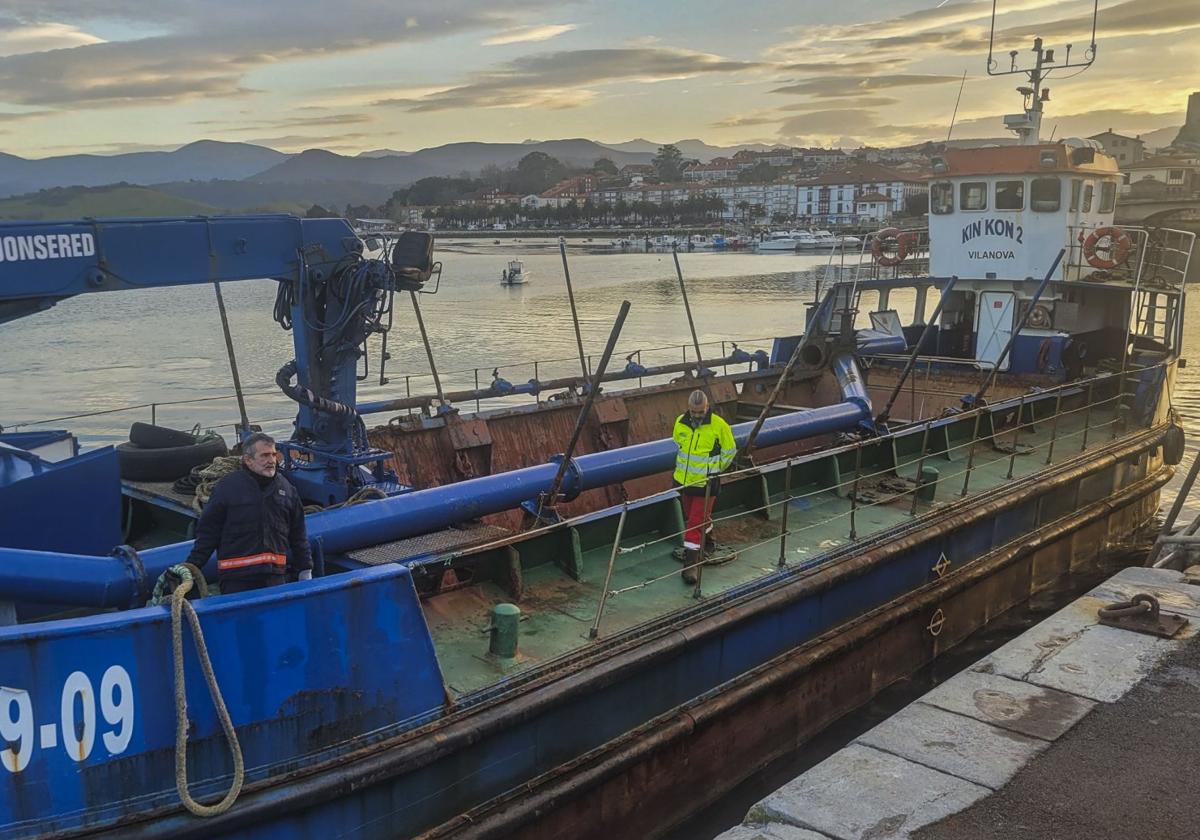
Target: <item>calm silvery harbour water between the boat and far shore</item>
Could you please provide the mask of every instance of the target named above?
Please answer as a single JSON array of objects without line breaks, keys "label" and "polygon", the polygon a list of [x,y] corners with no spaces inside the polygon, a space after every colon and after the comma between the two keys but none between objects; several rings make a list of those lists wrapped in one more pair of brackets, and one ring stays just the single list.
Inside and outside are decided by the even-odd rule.
[{"label": "calm silvery harbour water between the boat and far shore", "polygon": [[[440,288],[420,300],[446,390],[473,388],[476,376],[486,388],[493,368],[510,382],[578,372],[556,240],[445,239],[438,241],[436,257],[444,265]],[[532,277],[527,286],[499,283],[500,271],[514,257],[524,260]],[[644,365],[683,358],[682,348],[691,336],[668,251],[622,253],[606,242],[570,240],[568,257],[587,353],[599,355],[620,301],[628,299],[632,308],[618,353],[624,356],[641,349]],[[698,338],[714,342],[703,347],[704,355],[728,352],[730,346],[722,348],[721,342],[730,340],[750,352],[769,350],[770,336],[799,332],[804,305],[814,299],[817,270],[844,258],[851,263],[857,254],[680,253]],[[295,409],[274,379],[293,350],[292,336],[271,320],[275,292],[270,280],[223,287],[251,421],[287,436]],[[896,295],[892,305],[905,302]],[[1187,323],[1200,323],[1196,295],[1187,302]],[[5,427],[71,428],[90,446],[124,440],[130,424],[149,421],[152,412],[163,425],[200,424],[232,436],[238,412],[208,286],[86,295],[6,324],[4,330],[0,424]],[[378,354],[373,353],[370,378],[359,386],[360,398],[433,391],[404,295],[396,296],[389,352],[389,384],[378,384]],[[1194,332],[1184,338],[1183,355],[1189,354],[1196,365],[1180,371],[1174,394],[1189,434],[1188,458],[1200,440],[1200,335]],[[688,358],[692,355],[689,347]],[[535,373],[524,364],[534,359],[557,361],[540,365]],[[613,364],[623,360],[614,356]],[[154,409],[151,403],[157,403]],[[73,416],[80,414],[89,416]],[[60,418],[72,419],[41,422]],[[385,414],[368,418],[370,424],[386,420]],[[1187,460],[1180,476],[1186,467]]]}]

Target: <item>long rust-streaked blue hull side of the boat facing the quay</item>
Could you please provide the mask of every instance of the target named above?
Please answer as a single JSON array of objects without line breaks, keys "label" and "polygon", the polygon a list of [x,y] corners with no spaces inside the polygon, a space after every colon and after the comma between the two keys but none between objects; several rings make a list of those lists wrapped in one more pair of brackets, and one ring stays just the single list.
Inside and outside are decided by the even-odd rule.
[{"label": "long rust-streaked blue hull side of the boat facing the quay", "polygon": [[226,816],[163,814],[118,833],[653,835],[1132,536],[1172,473],[1164,431],[1096,445],[809,574],[614,637],[508,696],[251,788]]}]

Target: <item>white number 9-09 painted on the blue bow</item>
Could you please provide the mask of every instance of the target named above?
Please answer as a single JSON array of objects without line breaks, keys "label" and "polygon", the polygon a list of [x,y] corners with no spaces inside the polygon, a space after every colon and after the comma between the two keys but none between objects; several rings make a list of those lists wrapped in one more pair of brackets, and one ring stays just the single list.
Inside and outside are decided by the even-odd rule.
[{"label": "white number 9-09 painted on the blue bow", "polygon": [[[97,709],[98,707],[98,709]],[[103,732],[97,724],[103,719]],[[25,689],[0,685],[0,766],[20,773],[34,750],[62,746],[72,761],[85,761],[96,749],[96,737],[109,755],[119,755],[133,738],[133,683],[128,672],[114,665],[100,680],[97,695],[91,679],[74,671],[64,680],[58,721],[34,720],[34,698]]]}]

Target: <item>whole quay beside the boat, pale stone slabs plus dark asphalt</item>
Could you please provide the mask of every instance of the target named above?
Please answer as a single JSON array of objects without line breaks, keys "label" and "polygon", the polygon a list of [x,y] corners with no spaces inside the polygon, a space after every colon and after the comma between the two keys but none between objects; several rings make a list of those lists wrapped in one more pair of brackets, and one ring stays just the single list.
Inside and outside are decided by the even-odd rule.
[{"label": "whole quay beside the boat, pale stone slabs plus dark asphalt", "polygon": [[[754,805],[718,840],[1200,838],[1200,584],[1112,576]],[[1174,638],[1099,624],[1134,594]]]}]

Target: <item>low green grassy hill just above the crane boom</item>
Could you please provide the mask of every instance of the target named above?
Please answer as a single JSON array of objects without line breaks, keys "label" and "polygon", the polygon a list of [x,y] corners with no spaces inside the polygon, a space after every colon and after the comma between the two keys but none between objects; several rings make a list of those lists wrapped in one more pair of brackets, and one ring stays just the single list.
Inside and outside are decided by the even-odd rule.
[{"label": "low green grassy hill just above the crane boom", "polygon": [[107,187],[61,187],[0,199],[0,218],[121,218],[136,216],[204,216],[216,208],[146,187],[118,184]]}]

